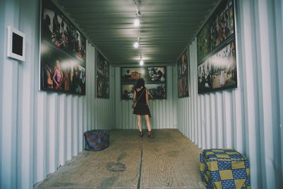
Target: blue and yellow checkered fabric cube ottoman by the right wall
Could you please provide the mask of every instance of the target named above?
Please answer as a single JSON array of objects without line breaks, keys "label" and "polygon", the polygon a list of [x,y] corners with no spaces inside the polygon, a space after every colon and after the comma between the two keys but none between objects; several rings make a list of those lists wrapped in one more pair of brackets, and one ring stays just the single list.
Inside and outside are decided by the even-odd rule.
[{"label": "blue and yellow checkered fabric cube ottoman by the right wall", "polygon": [[200,173],[206,188],[250,188],[248,159],[234,149],[204,149]]}]

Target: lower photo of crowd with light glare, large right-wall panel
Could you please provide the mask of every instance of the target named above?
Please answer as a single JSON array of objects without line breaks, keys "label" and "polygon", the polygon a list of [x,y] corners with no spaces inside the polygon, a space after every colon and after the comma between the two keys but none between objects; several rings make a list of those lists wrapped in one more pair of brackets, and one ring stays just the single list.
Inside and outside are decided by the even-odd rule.
[{"label": "lower photo of crowd with light glare, large right-wall panel", "polygon": [[236,88],[238,86],[235,40],[197,67],[198,92]]}]

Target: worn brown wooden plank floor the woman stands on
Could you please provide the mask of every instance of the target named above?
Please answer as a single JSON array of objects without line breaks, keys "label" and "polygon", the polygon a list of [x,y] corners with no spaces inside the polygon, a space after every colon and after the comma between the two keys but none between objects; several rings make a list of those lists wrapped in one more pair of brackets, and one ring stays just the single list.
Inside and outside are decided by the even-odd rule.
[{"label": "worn brown wooden plank floor the woman stands on", "polygon": [[83,151],[35,188],[204,188],[200,149],[178,130],[110,131],[110,147]]}]

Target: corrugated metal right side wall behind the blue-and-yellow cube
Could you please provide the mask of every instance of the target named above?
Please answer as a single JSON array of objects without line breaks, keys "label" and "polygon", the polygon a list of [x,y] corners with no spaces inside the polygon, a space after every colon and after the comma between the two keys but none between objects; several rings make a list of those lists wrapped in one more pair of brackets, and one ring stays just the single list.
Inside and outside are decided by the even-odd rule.
[{"label": "corrugated metal right side wall behind the blue-and-yellow cube", "polygon": [[236,1],[238,88],[197,94],[197,45],[190,45],[191,96],[178,99],[178,128],[198,147],[248,156],[252,188],[282,188],[283,58],[280,0]]}]

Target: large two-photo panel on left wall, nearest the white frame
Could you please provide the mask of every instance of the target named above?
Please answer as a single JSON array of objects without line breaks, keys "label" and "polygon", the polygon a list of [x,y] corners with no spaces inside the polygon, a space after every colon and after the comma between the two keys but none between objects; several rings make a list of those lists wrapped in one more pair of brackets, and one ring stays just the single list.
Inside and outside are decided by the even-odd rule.
[{"label": "large two-photo panel on left wall, nearest the white frame", "polygon": [[51,1],[41,1],[40,90],[86,94],[86,38]]}]

